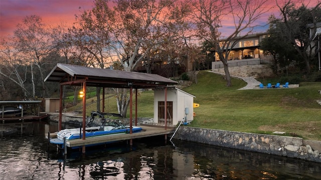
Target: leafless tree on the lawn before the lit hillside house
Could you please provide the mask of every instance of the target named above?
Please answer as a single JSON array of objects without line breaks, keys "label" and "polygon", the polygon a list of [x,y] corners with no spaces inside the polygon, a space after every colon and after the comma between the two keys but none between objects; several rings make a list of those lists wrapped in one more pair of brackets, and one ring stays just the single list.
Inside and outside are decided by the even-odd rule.
[{"label": "leafless tree on the lawn before the lit hillside house", "polygon": [[[269,9],[268,0],[188,0],[193,7],[194,22],[201,39],[215,44],[215,50],[224,64],[226,86],[231,86],[228,56],[238,41],[253,32],[257,21]],[[223,19],[232,18],[234,30],[225,35]]]}]

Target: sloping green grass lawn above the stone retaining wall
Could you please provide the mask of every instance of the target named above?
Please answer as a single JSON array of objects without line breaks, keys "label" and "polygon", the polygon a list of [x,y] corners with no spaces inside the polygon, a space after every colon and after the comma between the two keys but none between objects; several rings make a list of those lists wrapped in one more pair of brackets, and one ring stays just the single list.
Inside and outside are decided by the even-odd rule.
[{"label": "sloping green grass lawn above the stone retaining wall", "polygon": [[[291,82],[290,82],[291,83]],[[200,71],[198,83],[183,90],[196,96],[196,116],[189,126],[271,134],[285,131],[287,135],[321,140],[320,82],[301,82],[298,88],[237,90],[246,85],[232,79],[226,87],[223,76]],[[108,111],[117,112],[112,96],[105,101]],[[87,106],[87,112],[96,104]],[[79,107],[78,107],[79,108]],[[129,114],[129,109],[128,109]],[[138,96],[138,116],[153,117],[153,91]]]}]

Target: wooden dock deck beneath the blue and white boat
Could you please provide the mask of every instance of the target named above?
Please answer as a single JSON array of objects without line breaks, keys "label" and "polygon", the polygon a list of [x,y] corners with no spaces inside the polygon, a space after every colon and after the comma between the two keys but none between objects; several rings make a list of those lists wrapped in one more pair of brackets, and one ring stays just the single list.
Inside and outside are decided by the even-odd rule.
[{"label": "wooden dock deck beneath the blue and white boat", "polygon": [[[113,141],[120,141],[120,140],[127,140],[127,139],[135,139],[135,138],[142,138],[142,137],[149,137],[149,136],[156,136],[156,135],[165,135],[174,132],[174,128],[167,129],[164,126],[149,126],[149,125],[139,125],[142,128],[141,132],[135,132],[132,134],[117,134],[117,135],[101,135],[95,137],[87,137],[85,140],[83,139],[73,139],[68,140],[66,145],[68,147],[77,147],[83,145],[91,145],[91,144],[98,144],[98,143],[108,143]],[[57,136],[56,133],[51,133],[50,137],[55,138]],[[48,138],[48,135],[46,135]]]}]

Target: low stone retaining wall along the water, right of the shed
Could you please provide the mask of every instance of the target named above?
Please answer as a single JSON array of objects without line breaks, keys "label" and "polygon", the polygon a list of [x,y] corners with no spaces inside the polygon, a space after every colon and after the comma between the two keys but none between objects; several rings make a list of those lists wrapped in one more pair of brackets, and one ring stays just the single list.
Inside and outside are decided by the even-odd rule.
[{"label": "low stone retaining wall along the water, right of the shed", "polygon": [[181,126],[174,138],[321,162],[319,151],[298,137]]}]

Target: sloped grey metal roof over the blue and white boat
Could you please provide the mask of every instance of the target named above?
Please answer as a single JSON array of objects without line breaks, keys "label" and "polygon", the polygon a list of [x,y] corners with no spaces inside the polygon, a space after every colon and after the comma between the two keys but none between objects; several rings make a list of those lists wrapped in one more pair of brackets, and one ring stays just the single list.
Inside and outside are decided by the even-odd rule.
[{"label": "sloped grey metal roof over the blue and white boat", "polygon": [[57,65],[45,78],[45,81],[59,82],[63,85],[119,87],[119,88],[151,88],[174,85],[178,82],[157,74],[128,72],[106,68],[93,68],[80,65]]}]

